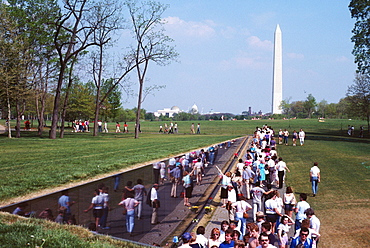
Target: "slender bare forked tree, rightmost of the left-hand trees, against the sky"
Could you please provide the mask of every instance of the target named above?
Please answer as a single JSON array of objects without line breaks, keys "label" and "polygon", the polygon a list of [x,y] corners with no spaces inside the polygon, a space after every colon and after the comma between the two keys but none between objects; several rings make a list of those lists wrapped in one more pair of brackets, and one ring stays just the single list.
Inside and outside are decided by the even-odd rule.
[{"label": "slender bare forked tree, rightmost of the left-hand trees, against the sky", "polygon": [[132,46],[132,55],[135,58],[136,72],[139,81],[137,99],[135,138],[139,138],[139,125],[141,116],[141,104],[143,102],[144,82],[148,72],[149,62],[157,65],[167,65],[176,59],[178,54],[169,43],[173,40],[164,34],[162,14],[167,5],[159,2],[148,1],[141,5],[135,0],[126,2],[128,7],[133,38],[135,45]]}]

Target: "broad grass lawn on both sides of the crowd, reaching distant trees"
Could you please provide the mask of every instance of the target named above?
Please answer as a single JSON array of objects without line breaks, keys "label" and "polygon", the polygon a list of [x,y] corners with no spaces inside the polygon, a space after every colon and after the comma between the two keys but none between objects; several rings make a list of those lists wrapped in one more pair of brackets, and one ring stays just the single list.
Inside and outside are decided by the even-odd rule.
[{"label": "broad grass lawn on both sides of the crowd, reaching distant trees", "polygon": [[[179,134],[159,134],[164,122],[142,122],[139,139],[133,133],[71,133],[64,139],[50,140],[45,133],[22,132],[20,139],[0,135],[0,199],[52,188],[68,182],[87,180],[93,176],[118,171],[130,165],[161,159],[199,147],[252,134],[255,127],[267,124],[278,129],[303,128],[307,141],[303,147],[279,146],[278,152],[291,173],[287,184],[295,192],[311,192],[309,169],[319,162],[322,183],[309,203],[322,222],[320,247],[355,247],[370,242],[370,142],[365,138],[348,137],[347,125],[355,130],[364,121],[356,120],[255,120],[202,121],[201,135],[190,135],[192,122],[178,122]],[[198,123],[195,122],[194,123]],[[133,123],[129,131],[133,131]],[[167,122],[169,124],[169,122]],[[114,131],[114,124],[109,124]],[[366,245],[365,245],[366,246]]]}]

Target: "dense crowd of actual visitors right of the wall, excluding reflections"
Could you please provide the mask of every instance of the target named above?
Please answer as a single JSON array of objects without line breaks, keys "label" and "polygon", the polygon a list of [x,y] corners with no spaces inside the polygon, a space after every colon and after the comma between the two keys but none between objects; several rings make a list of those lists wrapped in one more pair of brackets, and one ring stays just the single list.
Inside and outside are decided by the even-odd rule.
[{"label": "dense crowd of actual visitors right of the wall, excluding reflections", "polygon": [[[289,144],[289,132],[279,130],[278,144]],[[293,131],[292,143],[299,139],[304,145],[305,133]],[[196,234],[185,233],[182,248],[256,248],[256,247],[317,247],[320,221],[307,202],[307,194],[296,200],[292,187],[285,190],[283,183],[290,172],[276,151],[274,130],[268,126],[256,128],[253,141],[244,160],[239,159],[232,171],[221,178],[221,208],[228,211],[228,219],[220,228],[213,228],[208,242]],[[313,196],[317,194],[320,169],[315,162],[310,170]],[[280,190],[279,190],[280,189]],[[283,195],[280,192],[283,191]],[[246,200],[252,199],[251,204]],[[252,212],[251,218],[248,212]],[[293,217],[295,213],[295,217]],[[251,221],[248,223],[248,221]],[[294,230],[290,228],[294,226]]]}]

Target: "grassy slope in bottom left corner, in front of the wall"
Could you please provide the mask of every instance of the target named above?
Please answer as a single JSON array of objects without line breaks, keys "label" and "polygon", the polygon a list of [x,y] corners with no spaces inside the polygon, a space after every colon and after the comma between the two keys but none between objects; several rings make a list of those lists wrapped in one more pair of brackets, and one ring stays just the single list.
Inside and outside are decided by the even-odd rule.
[{"label": "grassy slope in bottom left corner, in front of the wall", "polygon": [[[43,239],[45,240],[44,246]],[[0,247],[141,248],[145,246],[96,236],[79,226],[59,225],[34,218],[0,213]]]}]

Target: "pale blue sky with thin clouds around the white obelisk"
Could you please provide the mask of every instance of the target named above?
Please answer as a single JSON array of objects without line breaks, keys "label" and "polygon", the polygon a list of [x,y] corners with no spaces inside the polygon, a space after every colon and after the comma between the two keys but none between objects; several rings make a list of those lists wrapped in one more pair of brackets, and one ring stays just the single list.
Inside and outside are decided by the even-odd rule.
[{"label": "pale blue sky with thin clouds around the white obelisk", "polygon": [[[282,30],[283,99],[337,103],[353,83],[354,20],[349,1],[161,0],[166,34],[175,40],[179,62],[148,71],[147,86],[166,85],[149,95],[153,112],[196,104],[208,113],[271,112],[273,42]],[[134,76],[131,78],[135,80]],[[123,107],[132,108],[136,99]]]}]

